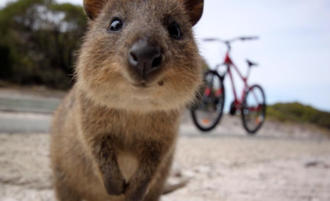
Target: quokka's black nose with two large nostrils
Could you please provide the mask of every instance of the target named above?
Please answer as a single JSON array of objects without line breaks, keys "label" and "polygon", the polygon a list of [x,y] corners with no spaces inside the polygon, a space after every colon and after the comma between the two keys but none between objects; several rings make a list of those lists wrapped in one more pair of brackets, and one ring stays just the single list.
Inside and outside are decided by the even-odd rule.
[{"label": "quokka's black nose with two large nostrils", "polygon": [[148,73],[161,66],[162,54],[159,46],[149,45],[147,40],[139,40],[128,50],[128,62],[145,78]]}]

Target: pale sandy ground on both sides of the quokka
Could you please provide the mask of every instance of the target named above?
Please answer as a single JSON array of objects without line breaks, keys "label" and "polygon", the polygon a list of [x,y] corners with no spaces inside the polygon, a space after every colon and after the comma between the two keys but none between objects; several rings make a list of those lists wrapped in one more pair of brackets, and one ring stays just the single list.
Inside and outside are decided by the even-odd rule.
[{"label": "pale sandy ground on both sides of the quokka", "polygon": [[[49,134],[0,134],[0,201],[54,201]],[[178,140],[162,201],[330,201],[330,141],[231,135]],[[180,170],[180,173],[178,173]]]}]

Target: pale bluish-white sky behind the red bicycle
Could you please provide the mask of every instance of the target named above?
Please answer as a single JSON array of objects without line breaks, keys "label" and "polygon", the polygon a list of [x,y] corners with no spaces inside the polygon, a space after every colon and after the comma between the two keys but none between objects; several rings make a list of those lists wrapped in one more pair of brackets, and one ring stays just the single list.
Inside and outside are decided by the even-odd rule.
[{"label": "pale bluish-white sky behind the red bicycle", "polygon": [[[0,6],[7,1],[0,0]],[[231,58],[244,74],[245,59],[259,64],[249,83],[265,89],[267,103],[299,101],[330,111],[330,0],[204,0],[194,30],[211,68],[223,62],[226,48],[201,39],[259,36],[232,45]],[[233,99],[228,78],[226,108]],[[235,82],[241,91],[240,80]]]}]

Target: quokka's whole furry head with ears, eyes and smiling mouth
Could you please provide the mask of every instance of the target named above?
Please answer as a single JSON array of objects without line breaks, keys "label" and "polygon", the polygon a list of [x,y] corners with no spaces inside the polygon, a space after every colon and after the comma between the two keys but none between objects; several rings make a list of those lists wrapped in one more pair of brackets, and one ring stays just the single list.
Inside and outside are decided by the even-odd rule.
[{"label": "quokka's whole furry head with ears, eyes and smiling mouth", "polygon": [[78,84],[97,102],[149,111],[194,97],[202,62],[192,25],[203,0],[85,0],[84,8],[91,22]]}]

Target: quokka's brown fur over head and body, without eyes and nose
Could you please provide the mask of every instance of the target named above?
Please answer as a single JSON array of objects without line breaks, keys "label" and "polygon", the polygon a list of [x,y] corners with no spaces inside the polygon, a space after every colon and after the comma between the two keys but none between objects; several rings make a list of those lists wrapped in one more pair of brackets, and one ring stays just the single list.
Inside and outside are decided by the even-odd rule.
[{"label": "quokka's brown fur over head and body, without eyes and nose", "polygon": [[[57,200],[157,201],[180,113],[202,83],[192,26],[203,0],[84,0],[84,9],[90,22],[76,85],[51,132]],[[120,31],[108,30],[114,19],[123,22]],[[179,38],[169,32],[173,23]],[[148,75],[127,62],[138,41],[160,48],[161,64]]]}]

